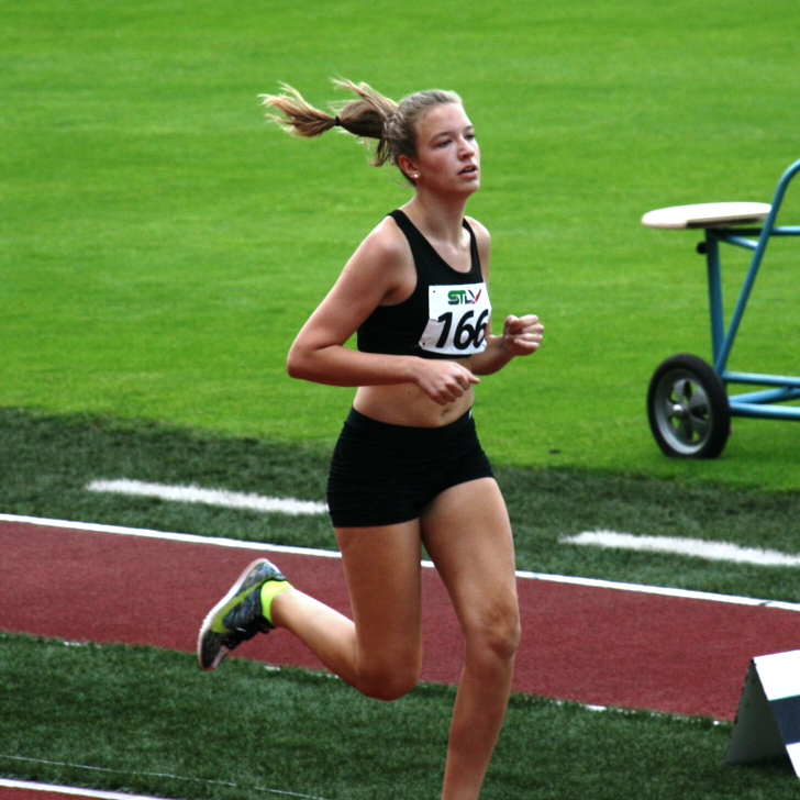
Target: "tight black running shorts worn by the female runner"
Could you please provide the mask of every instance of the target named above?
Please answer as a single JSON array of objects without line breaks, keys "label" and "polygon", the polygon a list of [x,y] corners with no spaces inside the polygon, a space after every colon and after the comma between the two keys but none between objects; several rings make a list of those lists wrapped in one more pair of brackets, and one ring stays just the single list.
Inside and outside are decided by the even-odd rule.
[{"label": "tight black running shorts worn by the female runner", "polygon": [[352,409],[327,478],[334,527],[393,525],[418,519],[445,489],[492,478],[471,411],[443,427],[378,422]]}]

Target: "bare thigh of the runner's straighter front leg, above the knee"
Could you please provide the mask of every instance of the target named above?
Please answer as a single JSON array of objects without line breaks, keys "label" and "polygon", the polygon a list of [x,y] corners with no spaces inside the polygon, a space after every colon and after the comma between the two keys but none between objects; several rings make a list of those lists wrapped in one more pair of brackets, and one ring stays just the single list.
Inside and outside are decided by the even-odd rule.
[{"label": "bare thigh of the runner's straighter front leg, above the knee", "polygon": [[519,625],[511,523],[493,478],[442,492],[422,516],[422,538],[467,635]]}]

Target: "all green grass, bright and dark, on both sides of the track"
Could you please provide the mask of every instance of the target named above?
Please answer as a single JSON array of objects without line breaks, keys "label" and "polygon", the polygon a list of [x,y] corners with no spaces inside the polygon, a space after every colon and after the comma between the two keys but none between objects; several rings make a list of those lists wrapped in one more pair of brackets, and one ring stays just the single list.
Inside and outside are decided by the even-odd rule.
[{"label": "all green grass, bright and dark, on both sides of the track", "polygon": [[[354,142],[267,126],[257,96],[286,80],[323,104],[340,75],[398,97],[441,86],[462,93],[482,146],[469,211],[493,235],[496,319],[535,311],[547,325],[540,354],[484,380],[476,411],[520,567],[800,600],[790,568],[558,542],[610,527],[798,551],[800,426],[736,421],[723,457],[697,463],[665,458],[649,434],[653,370],[680,352],[708,358],[710,336],[698,236],[640,219],[771,199],[800,157],[799,33],[792,0],[9,0],[0,511],[333,546],[324,521],[84,487],[130,477],[321,499],[349,393],[291,381],[285,355],[408,189]],[[798,222],[797,195],[785,215]],[[770,251],[732,367],[798,373],[797,260],[790,242]],[[726,298],[744,267],[725,263]],[[409,797],[436,796],[449,689],[375,707],[241,663],[205,695],[185,656],[10,635],[0,648],[0,775],[181,800],[269,787],[388,798],[402,780]],[[224,744],[198,735],[208,714],[225,719]],[[343,721],[358,735],[337,737]],[[704,720],[515,698],[486,797],[797,795],[784,765],[723,768],[729,736]],[[377,766],[354,757],[365,747]]]}]

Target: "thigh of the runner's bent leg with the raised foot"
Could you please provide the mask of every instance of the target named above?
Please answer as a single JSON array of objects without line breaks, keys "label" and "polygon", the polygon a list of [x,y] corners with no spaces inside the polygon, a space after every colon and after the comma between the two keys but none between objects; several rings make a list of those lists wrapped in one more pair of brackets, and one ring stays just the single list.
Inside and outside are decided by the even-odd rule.
[{"label": "thigh of the runner's bent leg with the raised foot", "polygon": [[338,527],[359,657],[421,659],[421,540],[416,520],[378,527]]}]

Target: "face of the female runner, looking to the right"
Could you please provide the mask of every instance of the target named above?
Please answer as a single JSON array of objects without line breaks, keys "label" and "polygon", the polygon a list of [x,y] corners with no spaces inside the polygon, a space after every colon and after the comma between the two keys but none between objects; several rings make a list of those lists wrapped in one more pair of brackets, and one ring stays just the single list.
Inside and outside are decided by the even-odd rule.
[{"label": "face of the female runner, looking to the right", "polygon": [[480,148],[464,107],[436,105],[416,125],[416,157],[401,165],[418,187],[471,193],[480,187]]}]

